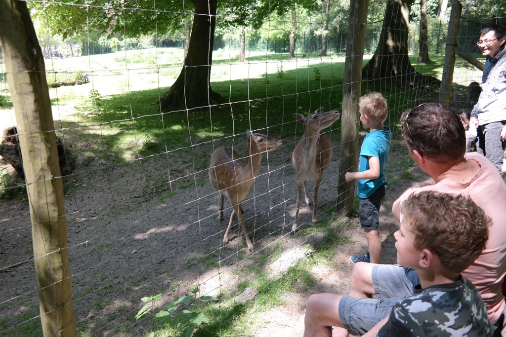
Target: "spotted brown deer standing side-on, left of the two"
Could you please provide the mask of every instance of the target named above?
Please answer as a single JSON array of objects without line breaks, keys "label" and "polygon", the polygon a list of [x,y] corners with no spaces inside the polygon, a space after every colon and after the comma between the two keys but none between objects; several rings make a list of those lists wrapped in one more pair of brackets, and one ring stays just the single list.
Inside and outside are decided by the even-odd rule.
[{"label": "spotted brown deer standing side-on, left of the two", "polygon": [[[239,224],[244,231],[246,244],[250,253],[255,253],[253,244],[249,239],[244,218],[242,217],[242,202],[246,199],[255,183],[255,178],[260,172],[260,163],[265,152],[278,149],[282,146],[282,141],[274,139],[261,133],[252,133],[246,131],[246,143],[248,156],[244,162],[238,153],[232,148],[221,147],[216,149],[209,163],[209,181],[213,188],[220,192],[220,211],[218,220],[223,221],[223,204],[225,195],[227,195],[232,205],[232,215],[228,223],[223,243],[228,244],[228,234],[230,227],[237,216]],[[240,230],[240,228],[239,228]]]}]

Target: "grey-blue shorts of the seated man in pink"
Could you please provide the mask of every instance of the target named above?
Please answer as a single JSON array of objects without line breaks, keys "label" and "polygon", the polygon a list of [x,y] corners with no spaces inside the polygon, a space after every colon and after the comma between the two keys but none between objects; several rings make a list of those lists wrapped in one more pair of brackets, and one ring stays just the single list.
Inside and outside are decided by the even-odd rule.
[{"label": "grey-blue shorts of the seated man in pink", "polygon": [[377,322],[390,315],[402,298],[413,295],[413,284],[398,265],[378,264],[372,268],[375,299],[343,296],[339,318],[349,333],[363,335]]}]

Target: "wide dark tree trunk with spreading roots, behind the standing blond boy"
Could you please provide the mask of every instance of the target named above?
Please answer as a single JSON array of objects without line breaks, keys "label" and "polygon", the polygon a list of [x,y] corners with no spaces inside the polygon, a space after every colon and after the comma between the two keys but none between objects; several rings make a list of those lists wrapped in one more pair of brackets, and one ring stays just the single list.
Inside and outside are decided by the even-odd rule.
[{"label": "wide dark tree trunk with spreading roots, behind the standing blond boy", "polygon": [[374,55],[362,69],[367,79],[390,80],[397,86],[436,84],[441,81],[419,74],[408,58],[408,15],[413,0],[389,0]]}]

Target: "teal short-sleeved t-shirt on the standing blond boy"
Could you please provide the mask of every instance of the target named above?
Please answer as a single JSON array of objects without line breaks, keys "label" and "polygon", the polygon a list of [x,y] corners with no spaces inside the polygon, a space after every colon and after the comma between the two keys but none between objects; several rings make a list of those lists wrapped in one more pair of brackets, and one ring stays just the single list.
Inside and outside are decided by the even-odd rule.
[{"label": "teal short-sleeved t-shirt on the standing blond boy", "polygon": [[376,179],[357,179],[357,196],[359,198],[369,197],[379,186],[387,182],[385,164],[388,160],[391,141],[392,131],[387,126],[383,130],[374,130],[365,135],[360,149],[358,172],[369,169],[369,157],[377,157],[379,158],[379,177]]}]

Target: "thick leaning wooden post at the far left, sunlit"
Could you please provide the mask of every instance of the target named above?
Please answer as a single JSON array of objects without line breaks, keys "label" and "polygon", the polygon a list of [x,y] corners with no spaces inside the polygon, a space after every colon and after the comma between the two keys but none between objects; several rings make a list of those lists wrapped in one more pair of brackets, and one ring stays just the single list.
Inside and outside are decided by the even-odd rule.
[{"label": "thick leaning wooden post at the far left, sunlit", "polygon": [[46,67],[26,2],[0,0],[0,41],[16,113],[44,336],[76,335],[63,201]]}]

